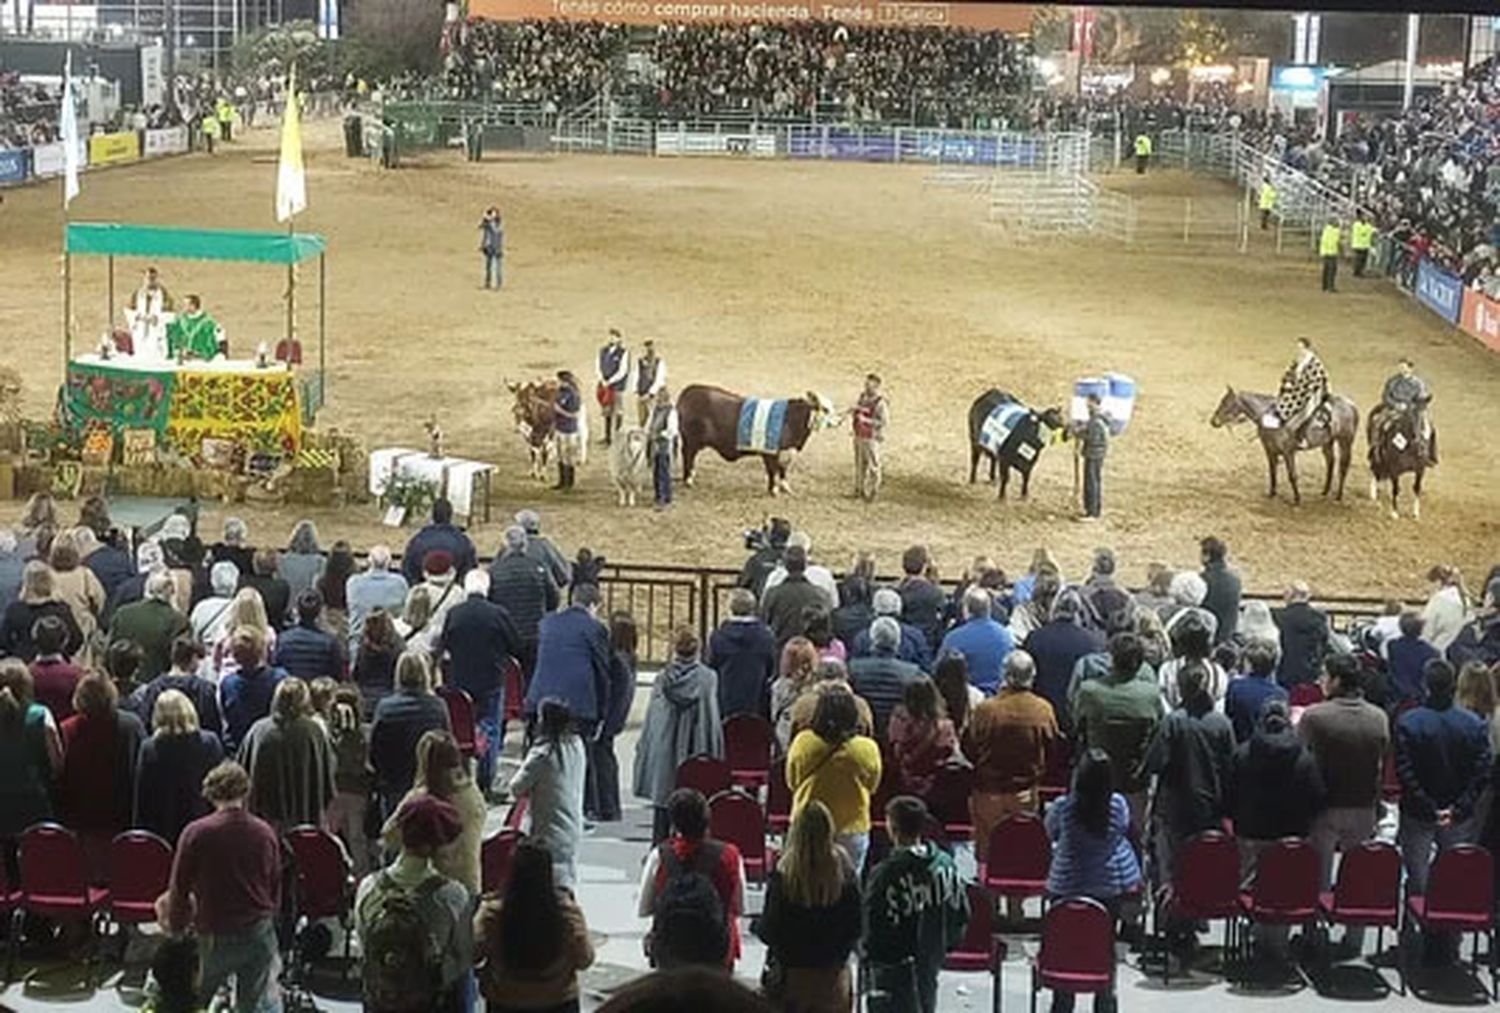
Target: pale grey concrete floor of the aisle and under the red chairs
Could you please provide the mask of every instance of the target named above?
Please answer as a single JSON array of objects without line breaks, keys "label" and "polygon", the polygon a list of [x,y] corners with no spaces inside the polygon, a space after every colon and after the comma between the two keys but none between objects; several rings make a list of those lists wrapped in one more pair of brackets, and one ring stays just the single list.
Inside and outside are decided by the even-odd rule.
[{"label": "pale grey concrete floor of the aisle and under the red chairs", "polygon": [[[638,711],[644,710],[646,692],[638,693]],[[636,716],[639,719],[639,713]],[[633,725],[618,741],[621,758],[621,779],[628,792],[630,759],[639,728]],[[516,743],[510,743],[507,767],[514,764]],[[646,854],[651,836],[650,810],[634,800],[627,798],[626,821],[621,824],[606,824],[596,828],[585,837],[579,858],[579,900],[588,918],[590,929],[596,936],[597,960],[584,974],[586,992],[585,1008],[591,1010],[615,987],[642,974],[646,966],[642,957],[642,935],[648,927],[636,917],[636,900],[640,864]],[[502,810],[492,810],[490,819],[498,827],[504,818]],[[960,866],[968,860],[972,867],[972,855],[960,855]],[[762,894],[759,888],[748,891],[750,914],[760,909]],[[1035,915],[1035,903],[1028,908]],[[742,926],[746,954],[736,968],[741,980],[753,984],[759,980],[760,966],[765,959],[765,947],[748,932],[748,924]],[[1218,929],[1215,929],[1218,938]],[[1017,935],[1008,938],[1010,957],[1002,971],[1002,1004],[1008,1010],[1023,1010],[1029,1004],[1029,957],[1035,953],[1036,938],[1034,935]],[[1370,938],[1374,944],[1374,933]],[[1388,947],[1390,938],[1386,938]],[[1124,953],[1124,951],[1122,951]],[[1467,945],[1466,945],[1467,953]],[[1227,984],[1215,974],[1197,974],[1188,978],[1173,978],[1170,987],[1161,984],[1160,977],[1148,978],[1137,965],[1134,954],[1125,954],[1120,965],[1119,993],[1120,1005],[1125,1010],[1150,1004],[1162,1013],[1200,1013],[1208,1004],[1216,1007],[1226,1002],[1239,1010],[1254,1010],[1275,1005],[1280,1010],[1294,1008],[1296,1013],[1317,1013],[1320,1010],[1346,1008],[1347,1002],[1364,999],[1378,1002],[1382,1008],[1410,1010],[1428,1005],[1414,995],[1386,995],[1378,978],[1366,965],[1350,965],[1340,968],[1330,980],[1320,981],[1318,986],[1328,995],[1320,995],[1314,987],[1287,990],[1246,990]],[[26,969],[22,969],[26,974]],[[30,980],[9,984],[0,990],[0,1002],[6,1010],[68,1010],[68,1013],[84,1013],[94,1010],[123,1010],[141,1002],[138,995],[117,987],[120,972],[110,969],[110,977],[99,989],[86,990],[81,986],[81,968],[78,966],[46,966],[30,972]],[[135,980],[138,981],[140,972]],[[1384,978],[1394,986],[1394,971],[1384,971]],[[1484,996],[1467,989],[1467,981],[1460,975],[1444,977],[1434,981],[1436,993],[1432,1001],[1442,1004],[1485,1004]],[[1340,998],[1334,998],[1334,990]],[[354,1011],[360,1008],[357,1001],[357,984],[344,987],[320,987],[316,1005],[330,1011]],[[342,995],[346,998],[334,998]],[[962,1010],[992,1008],[992,978],[987,974],[952,974],[942,977],[939,1008],[945,1013]],[[1046,996],[1042,996],[1046,1002]]]}]

